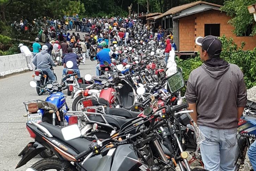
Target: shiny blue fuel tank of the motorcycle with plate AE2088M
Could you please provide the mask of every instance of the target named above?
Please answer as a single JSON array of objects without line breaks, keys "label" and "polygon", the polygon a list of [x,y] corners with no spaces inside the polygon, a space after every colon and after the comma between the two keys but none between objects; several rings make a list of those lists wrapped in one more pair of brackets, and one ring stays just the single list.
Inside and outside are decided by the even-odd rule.
[{"label": "shiny blue fuel tank of the motorcycle with plate AE2088M", "polygon": [[65,105],[66,96],[62,92],[53,92],[46,98],[45,101],[55,104],[58,109],[60,109]]}]

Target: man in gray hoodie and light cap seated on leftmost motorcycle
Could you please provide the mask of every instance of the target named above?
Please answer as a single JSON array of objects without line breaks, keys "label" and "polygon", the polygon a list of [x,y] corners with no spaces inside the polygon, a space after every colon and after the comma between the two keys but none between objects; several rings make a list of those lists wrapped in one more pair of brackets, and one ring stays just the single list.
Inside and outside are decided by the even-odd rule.
[{"label": "man in gray hoodie and light cap seated on leftmost motorcycle", "polygon": [[56,66],[56,64],[53,62],[53,59],[51,58],[50,54],[48,54],[47,50],[48,47],[46,45],[43,45],[41,52],[35,55],[32,63],[38,70],[47,72],[47,75],[49,76],[51,81],[56,81],[53,72],[49,68],[50,65]]}]

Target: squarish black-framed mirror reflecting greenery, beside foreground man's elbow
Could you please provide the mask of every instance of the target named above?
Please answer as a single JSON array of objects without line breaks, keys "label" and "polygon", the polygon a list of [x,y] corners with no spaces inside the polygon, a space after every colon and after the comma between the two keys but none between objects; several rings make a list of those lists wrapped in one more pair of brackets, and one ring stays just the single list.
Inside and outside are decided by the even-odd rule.
[{"label": "squarish black-framed mirror reflecting greenery, beside foreground man's elbow", "polygon": [[185,83],[184,83],[181,73],[176,72],[175,74],[173,74],[169,78],[167,78],[167,85],[168,85],[171,93],[177,92],[182,87],[184,87]]}]

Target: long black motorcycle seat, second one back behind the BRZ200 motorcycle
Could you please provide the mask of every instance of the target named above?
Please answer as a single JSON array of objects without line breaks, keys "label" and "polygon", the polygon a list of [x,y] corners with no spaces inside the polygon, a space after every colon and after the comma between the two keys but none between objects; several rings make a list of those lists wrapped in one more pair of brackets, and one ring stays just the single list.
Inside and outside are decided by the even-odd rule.
[{"label": "long black motorcycle seat, second one back behind the BRZ200 motorcycle", "polygon": [[127,119],[132,119],[132,118],[137,117],[141,112],[132,112],[132,111],[128,111],[127,109],[123,109],[123,108],[106,107],[105,113],[108,115],[122,116]]}]

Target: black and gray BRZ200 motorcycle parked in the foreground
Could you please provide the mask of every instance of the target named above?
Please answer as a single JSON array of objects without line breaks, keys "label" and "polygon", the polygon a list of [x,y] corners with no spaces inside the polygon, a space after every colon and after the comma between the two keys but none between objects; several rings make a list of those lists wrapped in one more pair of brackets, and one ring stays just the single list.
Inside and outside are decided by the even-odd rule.
[{"label": "black and gray BRZ200 motorcycle parked in the foreground", "polygon": [[[177,84],[177,81],[174,83],[176,86],[173,85],[172,90],[181,88],[179,87],[182,86],[181,83]],[[50,148],[57,158],[40,160],[31,168],[80,171],[103,169],[173,171],[178,164],[181,170],[192,171],[187,161],[188,154],[184,151],[184,134],[180,130],[182,126],[192,122],[187,114],[192,111],[180,111],[186,107],[187,104],[176,107],[163,106],[154,112],[151,108],[147,108],[144,112],[146,117],[129,120],[122,124],[115,135],[102,141],[95,135],[81,135],[78,124],[60,128],[45,122],[27,123],[26,128],[35,141],[29,142],[19,153],[22,159],[16,168],[26,164],[41,150]],[[158,118],[161,120],[158,121]],[[168,134],[168,132],[173,133]],[[169,140],[166,146],[161,145],[161,137],[165,141]]]}]

